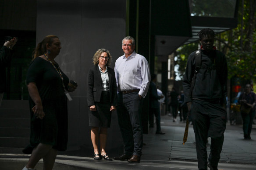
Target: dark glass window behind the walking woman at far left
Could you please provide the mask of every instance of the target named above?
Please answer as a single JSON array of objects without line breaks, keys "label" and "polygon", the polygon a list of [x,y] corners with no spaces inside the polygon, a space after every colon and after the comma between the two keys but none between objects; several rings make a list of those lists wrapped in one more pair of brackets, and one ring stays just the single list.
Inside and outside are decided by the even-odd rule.
[{"label": "dark glass window behind the walking woman at far left", "polygon": [[0,36],[0,48],[4,45],[5,36],[18,37],[18,42],[13,48],[13,58],[6,65],[6,92],[4,100],[28,100],[28,87],[26,86],[26,74],[32,60],[32,52],[36,45],[35,31],[2,31]]}]

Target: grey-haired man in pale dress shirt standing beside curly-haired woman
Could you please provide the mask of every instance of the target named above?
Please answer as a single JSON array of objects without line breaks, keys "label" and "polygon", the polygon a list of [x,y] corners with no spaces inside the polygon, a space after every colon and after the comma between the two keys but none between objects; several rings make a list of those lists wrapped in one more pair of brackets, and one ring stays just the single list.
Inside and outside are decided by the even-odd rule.
[{"label": "grey-haired man in pale dress shirt standing beside curly-haired woman", "polygon": [[115,63],[117,81],[117,116],[124,141],[124,154],[115,160],[140,162],[142,154],[142,101],[149,83],[149,64],[145,57],[137,54],[135,39],[128,36],[122,40],[124,55]]}]

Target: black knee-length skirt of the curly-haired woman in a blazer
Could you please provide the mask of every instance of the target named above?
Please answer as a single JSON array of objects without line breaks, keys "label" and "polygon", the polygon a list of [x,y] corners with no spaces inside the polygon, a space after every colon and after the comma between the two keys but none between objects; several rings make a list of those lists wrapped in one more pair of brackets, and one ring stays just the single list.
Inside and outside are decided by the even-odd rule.
[{"label": "black knee-length skirt of the curly-haired woman in a blazer", "polygon": [[109,128],[111,122],[111,103],[109,91],[102,91],[100,102],[95,102],[96,111],[89,109],[89,126]]}]

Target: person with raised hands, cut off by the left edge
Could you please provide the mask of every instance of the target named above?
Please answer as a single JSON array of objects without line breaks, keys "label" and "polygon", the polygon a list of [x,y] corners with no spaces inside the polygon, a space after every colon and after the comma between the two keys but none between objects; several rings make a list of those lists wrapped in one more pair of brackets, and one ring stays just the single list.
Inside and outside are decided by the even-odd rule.
[{"label": "person with raised hands, cut off by the left edge", "polygon": [[6,41],[0,49],[0,106],[6,91],[6,66],[11,62],[13,56],[12,48],[17,41],[18,39],[13,37],[11,40]]}]

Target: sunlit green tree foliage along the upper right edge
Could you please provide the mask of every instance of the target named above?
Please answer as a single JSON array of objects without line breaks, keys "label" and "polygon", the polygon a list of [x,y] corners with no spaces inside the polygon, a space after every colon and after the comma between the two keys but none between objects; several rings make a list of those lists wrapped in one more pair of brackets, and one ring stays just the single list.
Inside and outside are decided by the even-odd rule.
[{"label": "sunlit green tree foliage along the upper right edge", "polygon": [[[229,78],[237,76],[245,80],[256,81],[256,13],[253,9],[255,5],[256,0],[244,0],[243,7],[240,3],[238,27],[221,34],[221,39],[227,42],[222,44],[221,48],[227,57]],[[228,38],[228,35],[232,35],[232,38]],[[227,44],[230,45],[228,49]]]}]

